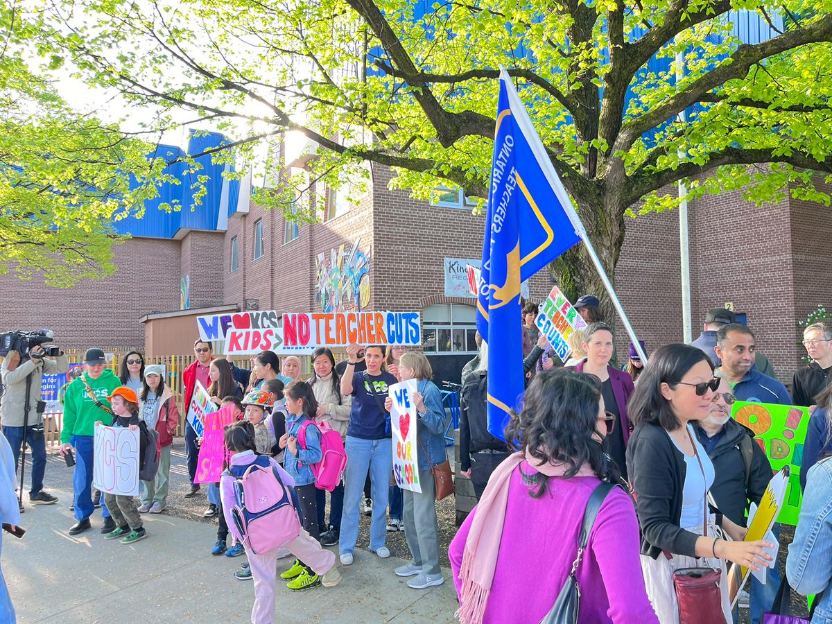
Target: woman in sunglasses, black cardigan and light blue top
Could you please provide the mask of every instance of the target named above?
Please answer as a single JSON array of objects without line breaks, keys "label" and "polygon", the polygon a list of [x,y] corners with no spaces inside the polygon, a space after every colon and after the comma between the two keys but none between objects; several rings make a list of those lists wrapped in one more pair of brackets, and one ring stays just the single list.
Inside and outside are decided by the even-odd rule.
[{"label": "woman in sunglasses, black cardigan and light blue top", "polygon": [[[636,428],[626,463],[641,526],[641,568],[647,595],[663,624],[679,622],[673,570],[721,569],[721,611],[731,622],[726,560],[752,570],[771,560],[764,552],[772,546],[769,542],[742,542],[745,527],[707,513],[714,466],[696,440],[693,424],[711,415],[720,383],[704,352],[667,344],[652,355],[630,400]],[[720,518],[722,531],[735,542],[721,537]]]}]

